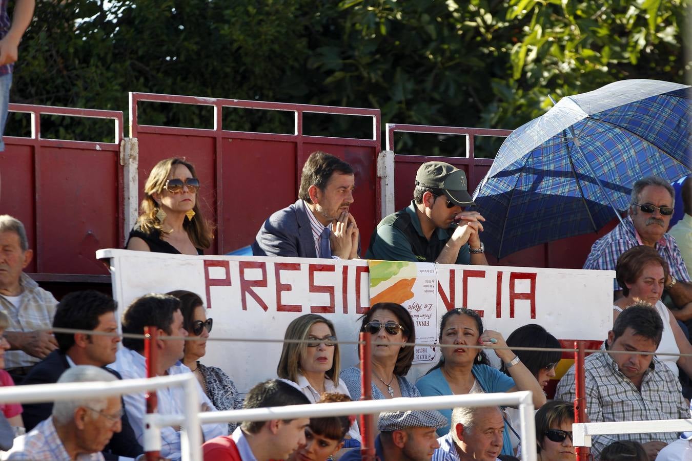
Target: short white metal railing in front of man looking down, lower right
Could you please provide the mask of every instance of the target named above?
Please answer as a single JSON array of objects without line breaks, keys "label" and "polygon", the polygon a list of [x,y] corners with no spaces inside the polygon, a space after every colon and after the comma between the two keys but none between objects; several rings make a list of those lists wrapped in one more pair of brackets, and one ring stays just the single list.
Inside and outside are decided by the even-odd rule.
[{"label": "short white metal railing in front of man looking down, lower right", "polygon": [[690,420],[581,422],[572,424],[574,446],[591,446],[592,435],[692,431]]}]

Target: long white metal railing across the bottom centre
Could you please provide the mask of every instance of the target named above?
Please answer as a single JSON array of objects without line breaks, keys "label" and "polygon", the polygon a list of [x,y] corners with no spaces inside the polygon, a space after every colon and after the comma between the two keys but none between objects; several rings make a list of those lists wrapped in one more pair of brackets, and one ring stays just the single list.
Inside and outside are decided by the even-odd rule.
[{"label": "long white metal railing across the bottom centre", "polygon": [[[229,410],[200,413],[201,424],[291,420],[298,417],[325,417],[353,414],[372,414],[381,411],[400,410],[439,410],[457,406],[500,406],[516,405],[520,412],[520,436],[522,440],[536,440],[534,425],[534,401],[531,391],[492,394],[442,395],[439,397],[399,397],[384,400],[358,400],[356,402],[334,402],[329,404],[306,404],[291,406],[274,406],[269,408],[251,408],[247,410]],[[152,415],[149,423],[158,427],[183,424],[181,415]],[[183,452],[184,453],[184,452]],[[183,460],[185,458],[183,457]],[[522,461],[536,461],[536,444],[527,443],[521,453]]]}]

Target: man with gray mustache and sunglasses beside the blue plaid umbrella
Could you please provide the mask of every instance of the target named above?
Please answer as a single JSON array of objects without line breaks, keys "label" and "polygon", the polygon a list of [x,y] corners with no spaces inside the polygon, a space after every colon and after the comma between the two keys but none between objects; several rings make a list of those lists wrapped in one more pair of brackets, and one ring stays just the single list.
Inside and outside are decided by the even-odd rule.
[{"label": "man with gray mustache and sunglasses beside the blue plaid umbrella", "polygon": [[[663,178],[647,176],[635,182],[628,216],[594,243],[584,269],[615,270],[617,258],[626,250],[637,245],[655,248],[668,263],[665,289],[677,307],[673,314],[686,321],[692,319],[692,283],[675,238],[667,233],[674,205],[675,191]],[[614,299],[621,296],[616,280]]]}]

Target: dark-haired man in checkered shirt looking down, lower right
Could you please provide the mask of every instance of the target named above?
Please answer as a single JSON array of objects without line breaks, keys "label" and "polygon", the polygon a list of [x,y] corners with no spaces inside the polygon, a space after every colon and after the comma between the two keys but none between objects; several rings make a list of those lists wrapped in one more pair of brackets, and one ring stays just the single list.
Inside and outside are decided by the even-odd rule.
[{"label": "dark-haired man in checkered shirt looking down, lower right", "polygon": [[[633,305],[615,320],[605,348],[626,353],[597,352],[584,360],[586,413],[591,422],[677,420],[690,417],[689,406],[673,372],[653,355],[661,341],[663,321],[648,305]],[[556,400],[574,401],[574,365],[560,380]],[[594,460],[615,440],[644,445],[650,460],[677,433],[638,433],[592,436]]]}]

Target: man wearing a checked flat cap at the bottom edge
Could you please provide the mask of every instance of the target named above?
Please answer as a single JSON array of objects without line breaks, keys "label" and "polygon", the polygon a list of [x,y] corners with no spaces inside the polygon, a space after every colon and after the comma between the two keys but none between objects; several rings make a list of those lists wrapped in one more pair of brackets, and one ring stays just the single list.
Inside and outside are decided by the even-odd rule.
[{"label": "man wearing a checked flat cap at the bottom edge", "polygon": [[[380,413],[375,451],[381,461],[430,461],[439,447],[437,429],[447,418],[435,410],[385,411]],[[361,449],[347,451],[341,461],[361,459]]]}]

